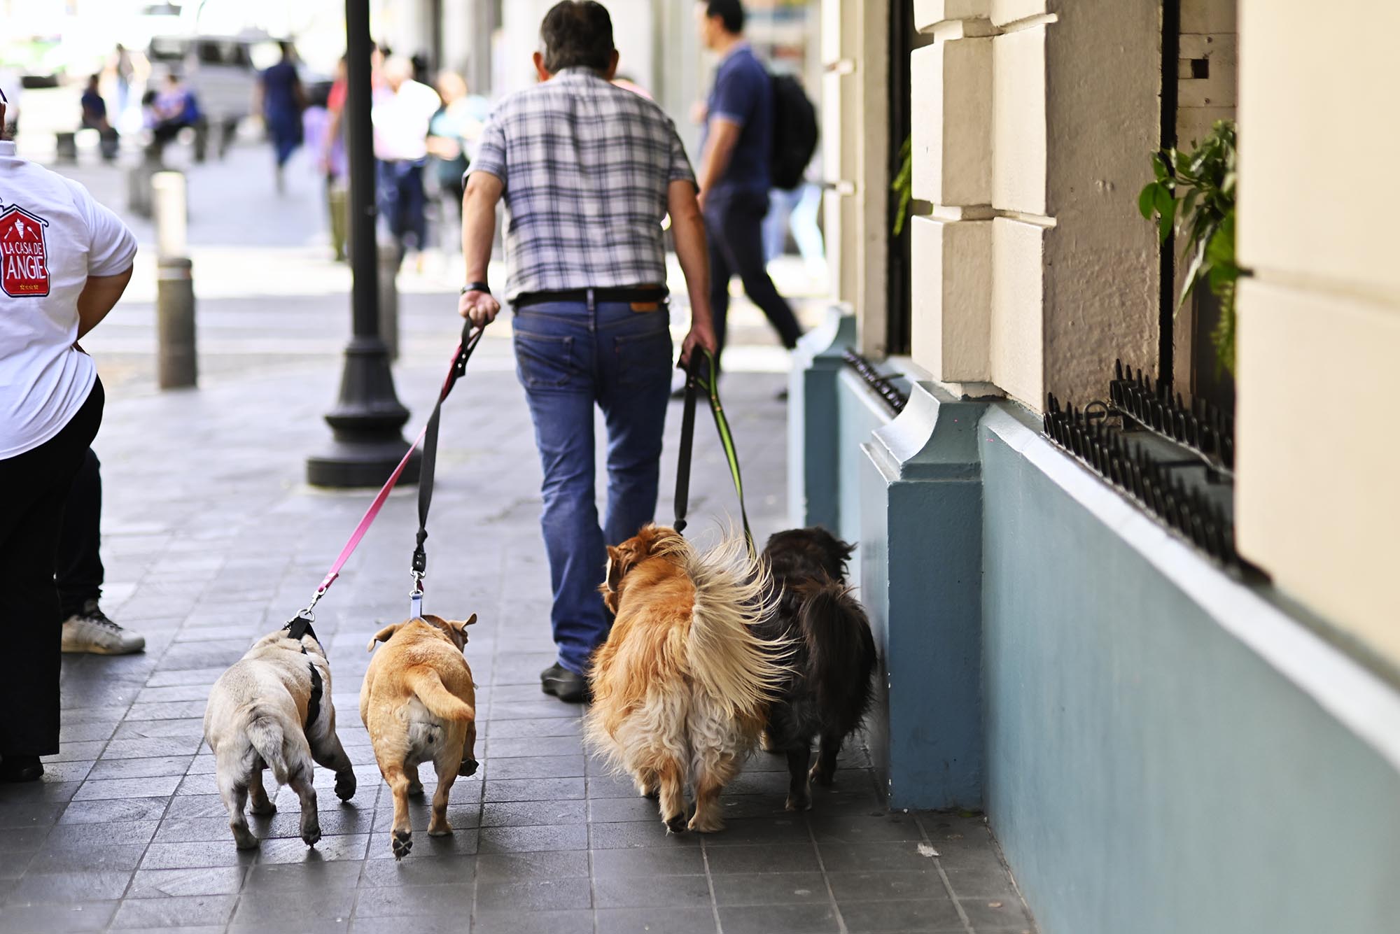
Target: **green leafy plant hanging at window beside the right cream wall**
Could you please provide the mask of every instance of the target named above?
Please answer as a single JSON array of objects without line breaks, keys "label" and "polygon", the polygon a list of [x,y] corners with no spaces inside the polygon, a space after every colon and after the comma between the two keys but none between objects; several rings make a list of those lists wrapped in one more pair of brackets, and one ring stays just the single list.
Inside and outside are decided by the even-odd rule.
[{"label": "green leafy plant hanging at window beside the right cream wall", "polygon": [[1190,257],[1180,310],[1200,282],[1221,302],[1219,322],[1211,333],[1215,359],[1235,372],[1235,122],[1217,120],[1191,152],[1169,150],[1152,154],[1155,179],[1138,194],[1138,211],[1156,218],[1165,243],[1175,229],[1183,238],[1183,259]]}]

